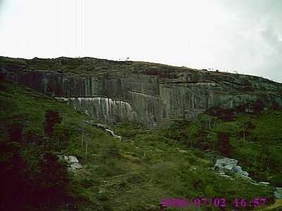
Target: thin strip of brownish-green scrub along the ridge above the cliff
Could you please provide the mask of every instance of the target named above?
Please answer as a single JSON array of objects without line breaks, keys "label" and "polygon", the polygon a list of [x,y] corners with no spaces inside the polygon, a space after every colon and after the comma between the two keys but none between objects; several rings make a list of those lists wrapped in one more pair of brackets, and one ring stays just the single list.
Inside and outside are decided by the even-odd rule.
[{"label": "thin strip of brownish-green scrub along the ridge above the cliff", "polygon": [[141,61],[115,61],[98,58],[8,58],[0,56],[0,64],[8,70],[41,70],[76,75],[96,75],[101,72],[133,72],[147,75],[161,75],[174,78],[174,72],[187,71],[190,68],[180,68],[171,65],[147,63]]}]

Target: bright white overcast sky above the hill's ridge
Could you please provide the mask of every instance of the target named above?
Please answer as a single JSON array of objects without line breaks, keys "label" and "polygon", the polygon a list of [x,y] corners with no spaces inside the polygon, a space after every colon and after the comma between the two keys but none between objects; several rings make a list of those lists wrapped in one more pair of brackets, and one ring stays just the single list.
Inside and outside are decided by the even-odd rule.
[{"label": "bright white overcast sky above the hill's ridge", "polygon": [[129,57],[282,82],[282,0],[0,0],[0,56]]}]

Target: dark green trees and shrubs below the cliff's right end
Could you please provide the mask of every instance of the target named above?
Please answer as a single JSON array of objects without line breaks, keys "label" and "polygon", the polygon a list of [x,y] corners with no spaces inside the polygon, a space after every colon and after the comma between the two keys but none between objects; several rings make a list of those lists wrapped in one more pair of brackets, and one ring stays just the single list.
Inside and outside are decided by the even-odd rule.
[{"label": "dark green trees and shrubs below the cliff's right end", "polygon": [[235,158],[253,179],[282,186],[281,120],[281,110],[240,113],[231,121],[202,115],[193,122],[176,122],[165,136],[207,153]]}]

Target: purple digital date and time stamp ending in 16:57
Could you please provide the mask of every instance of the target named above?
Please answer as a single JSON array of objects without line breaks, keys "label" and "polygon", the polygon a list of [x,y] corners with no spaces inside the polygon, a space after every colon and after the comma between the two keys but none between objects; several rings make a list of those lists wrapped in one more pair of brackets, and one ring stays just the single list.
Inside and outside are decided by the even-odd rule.
[{"label": "purple digital date and time stamp ending in 16:57", "polygon": [[[245,198],[235,198],[232,200],[232,206],[235,208],[243,207],[259,207],[260,205],[265,205],[267,198],[253,198],[252,200],[247,200]],[[161,200],[162,207],[201,207],[201,206],[213,206],[216,208],[226,207],[226,198],[164,198]]]}]

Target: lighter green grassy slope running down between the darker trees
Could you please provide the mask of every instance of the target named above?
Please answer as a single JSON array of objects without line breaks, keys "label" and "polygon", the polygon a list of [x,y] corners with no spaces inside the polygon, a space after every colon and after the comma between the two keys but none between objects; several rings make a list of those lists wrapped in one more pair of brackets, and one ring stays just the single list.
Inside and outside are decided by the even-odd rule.
[{"label": "lighter green grassy slope running down between the darker trees", "polygon": [[[2,140],[7,136],[5,125],[13,117],[24,117],[25,134],[28,131],[43,134],[44,111],[52,108],[61,113],[70,136],[67,153],[76,155],[85,165],[85,170],[70,176],[70,194],[75,197],[78,210],[159,210],[162,198],[201,196],[225,197],[227,205],[231,205],[234,198],[272,195],[271,188],[250,185],[240,178],[231,181],[219,177],[207,169],[212,162],[204,153],[173,140],[164,132],[146,132],[132,124],[123,124],[114,127],[125,136],[123,141],[118,141],[100,129],[83,124],[83,120],[89,119],[86,115],[9,82],[1,84],[0,106]],[[83,140],[89,143],[87,160],[85,142],[81,146],[82,129]]]}]

